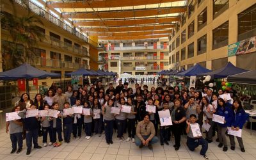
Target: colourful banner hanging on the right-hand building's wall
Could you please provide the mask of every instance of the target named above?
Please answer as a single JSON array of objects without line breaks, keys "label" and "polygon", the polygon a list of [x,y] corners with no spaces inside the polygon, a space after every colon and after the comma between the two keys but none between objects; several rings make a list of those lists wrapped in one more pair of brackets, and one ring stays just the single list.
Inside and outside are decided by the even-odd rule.
[{"label": "colourful banner hanging on the right-hand building's wall", "polygon": [[256,51],[256,36],[228,45],[228,57]]}]

